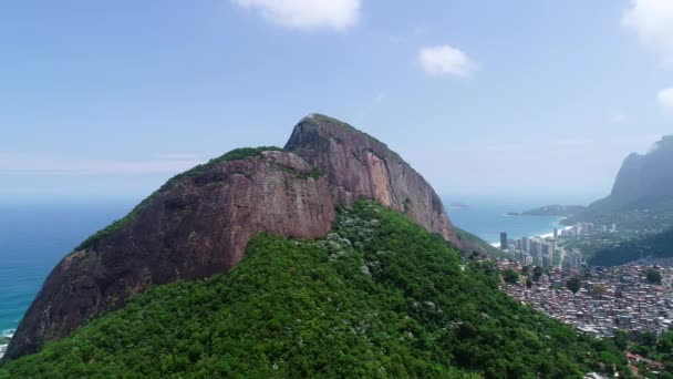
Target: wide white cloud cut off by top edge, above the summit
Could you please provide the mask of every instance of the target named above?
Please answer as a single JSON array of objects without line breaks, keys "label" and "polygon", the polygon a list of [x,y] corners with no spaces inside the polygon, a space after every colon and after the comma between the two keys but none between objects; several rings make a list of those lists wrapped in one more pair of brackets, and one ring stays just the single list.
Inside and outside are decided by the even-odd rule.
[{"label": "wide white cloud cut off by top edge, above the summit", "polygon": [[361,0],[231,0],[282,27],[345,30],[358,22]]}]

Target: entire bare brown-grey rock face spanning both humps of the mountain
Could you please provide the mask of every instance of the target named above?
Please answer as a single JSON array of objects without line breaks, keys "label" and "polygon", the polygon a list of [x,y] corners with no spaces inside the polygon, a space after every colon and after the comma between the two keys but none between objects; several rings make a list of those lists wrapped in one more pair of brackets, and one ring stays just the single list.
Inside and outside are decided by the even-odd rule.
[{"label": "entire bare brown-grey rock face spanning both humps of the mountain", "polygon": [[39,350],[151,285],[226,273],[260,232],[324,236],[335,206],[360,196],[460,245],[427,182],[373,137],[311,115],[287,150],[231,154],[178,175],[85,242],[50,274],[4,359]]}]

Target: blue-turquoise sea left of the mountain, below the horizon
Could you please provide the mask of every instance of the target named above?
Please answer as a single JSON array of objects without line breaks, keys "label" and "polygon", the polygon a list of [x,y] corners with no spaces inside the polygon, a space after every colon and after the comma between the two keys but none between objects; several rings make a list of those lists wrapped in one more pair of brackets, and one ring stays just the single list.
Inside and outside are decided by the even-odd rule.
[{"label": "blue-turquoise sea left of the mountain, below the horizon", "polygon": [[130,205],[0,205],[0,336],[11,332],[55,264]]}]

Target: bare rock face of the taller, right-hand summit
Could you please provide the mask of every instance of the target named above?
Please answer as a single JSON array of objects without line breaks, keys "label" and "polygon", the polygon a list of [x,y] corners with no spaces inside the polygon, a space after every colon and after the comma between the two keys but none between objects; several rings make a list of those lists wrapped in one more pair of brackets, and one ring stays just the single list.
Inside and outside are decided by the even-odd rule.
[{"label": "bare rock face of the taller, right-hand summit", "polygon": [[432,186],[376,139],[324,115],[304,117],[286,148],[327,174],[334,204],[373,198],[460,246]]}]

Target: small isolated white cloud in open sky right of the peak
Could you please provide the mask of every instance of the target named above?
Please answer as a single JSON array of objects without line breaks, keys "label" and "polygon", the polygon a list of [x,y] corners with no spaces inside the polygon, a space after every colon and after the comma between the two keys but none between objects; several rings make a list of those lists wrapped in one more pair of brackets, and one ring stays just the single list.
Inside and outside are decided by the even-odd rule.
[{"label": "small isolated white cloud in open sky right of the peak", "polygon": [[422,48],[418,61],[423,70],[433,76],[468,76],[476,70],[475,63],[466,53],[448,44]]}]

